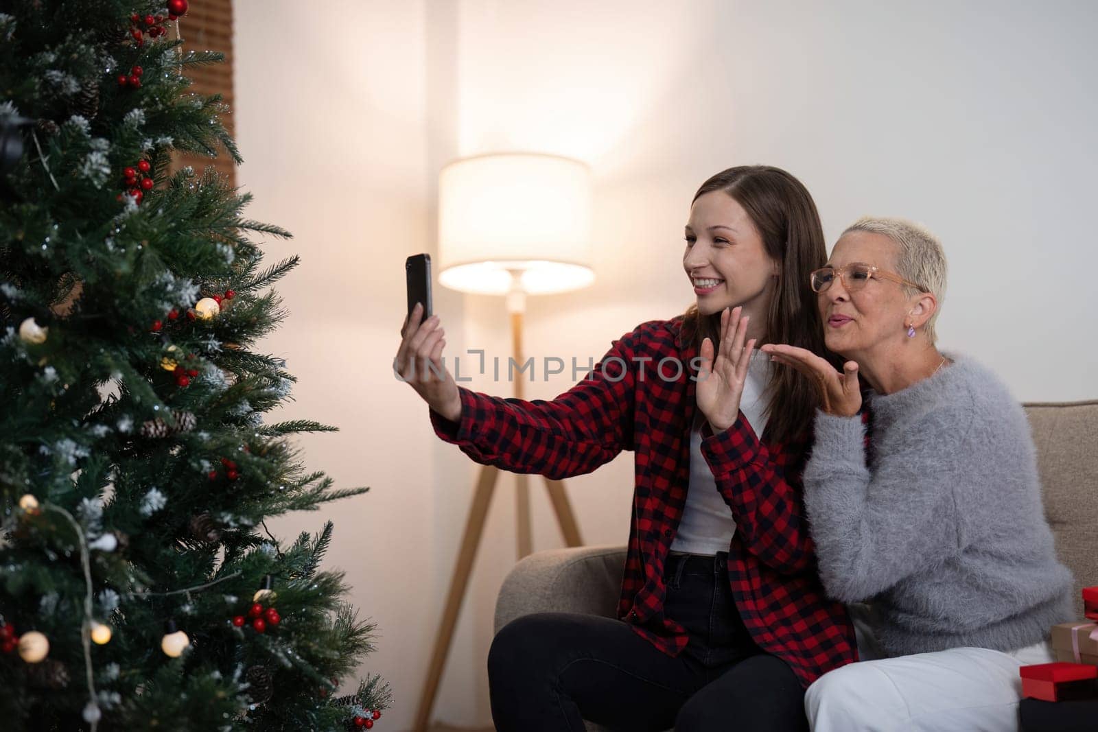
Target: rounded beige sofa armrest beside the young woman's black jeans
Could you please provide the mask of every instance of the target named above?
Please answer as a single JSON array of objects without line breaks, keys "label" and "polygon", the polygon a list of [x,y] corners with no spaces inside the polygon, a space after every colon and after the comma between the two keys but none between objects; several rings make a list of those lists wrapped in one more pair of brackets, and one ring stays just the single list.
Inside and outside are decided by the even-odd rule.
[{"label": "rounded beige sofa armrest beside the young woman's black jeans", "polygon": [[625,547],[575,547],[525,558],[500,587],[495,632],[534,612],[617,617],[625,553]]}]

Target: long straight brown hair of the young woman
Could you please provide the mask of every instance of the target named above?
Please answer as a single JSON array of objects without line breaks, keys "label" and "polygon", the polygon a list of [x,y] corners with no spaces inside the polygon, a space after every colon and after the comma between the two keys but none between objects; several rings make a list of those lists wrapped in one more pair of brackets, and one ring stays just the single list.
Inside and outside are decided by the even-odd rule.
[{"label": "long straight brown hair of the young woman", "polygon": [[[766,254],[781,264],[763,342],[799,346],[833,360],[824,347],[816,293],[808,283],[808,273],[827,263],[824,226],[808,189],[780,168],[739,166],[702,183],[694,201],[713,191],[724,191],[743,206]],[[694,348],[701,349],[705,338],[718,348],[720,313],[702,315],[696,304],[691,305],[683,317],[683,335]],[[765,395],[766,431],[772,439],[787,442],[807,431],[819,398],[806,376],[777,368]]]}]

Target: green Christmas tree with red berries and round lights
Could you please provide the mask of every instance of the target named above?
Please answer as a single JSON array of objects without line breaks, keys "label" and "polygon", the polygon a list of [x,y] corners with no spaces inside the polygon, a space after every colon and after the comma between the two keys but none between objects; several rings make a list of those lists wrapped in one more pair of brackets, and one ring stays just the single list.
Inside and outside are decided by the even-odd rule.
[{"label": "green Christmas tree with red berries and round lights", "polygon": [[189,90],[186,0],[0,8],[0,727],[372,728],[343,686],[373,627],[265,519],[356,495],[268,424],[284,316],[249,196],[173,153],[239,162]]}]

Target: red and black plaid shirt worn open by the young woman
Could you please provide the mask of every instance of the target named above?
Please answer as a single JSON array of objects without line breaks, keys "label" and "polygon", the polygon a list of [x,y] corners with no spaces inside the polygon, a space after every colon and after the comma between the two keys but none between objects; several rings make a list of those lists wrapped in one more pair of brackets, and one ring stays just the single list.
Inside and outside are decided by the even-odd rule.
[{"label": "red and black plaid shirt worn open by the young woman", "polygon": [[[682,316],[641,324],[551,402],[461,388],[460,421],[432,412],[444,440],[479,463],[514,472],[565,478],[634,451],[632,523],[617,611],[671,656],[688,638],[663,615],[663,565],[686,504],[696,405],[690,378],[696,353],[683,342],[681,325]],[[657,373],[661,359],[669,360]],[[702,453],[736,519],[728,581],[755,643],[788,663],[805,686],[856,661],[847,609],[825,596],[816,573],[800,496],[808,439],[760,442],[742,413],[724,432],[714,435],[706,424],[702,435]]]}]

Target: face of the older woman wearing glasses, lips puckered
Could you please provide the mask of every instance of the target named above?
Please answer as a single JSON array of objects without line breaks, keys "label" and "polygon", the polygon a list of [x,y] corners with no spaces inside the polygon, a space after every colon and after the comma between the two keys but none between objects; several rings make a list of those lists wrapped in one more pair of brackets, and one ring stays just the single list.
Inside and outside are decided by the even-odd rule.
[{"label": "face of the older woman wearing glasses, lips puckered", "polygon": [[[896,255],[896,243],[883,234],[849,232],[834,245],[828,267],[840,269],[859,262],[895,273]],[[907,324],[922,313],[918,295],[911,296],[901,284],[876,278],[851,292],[847,282],[836,277],[817,297],[824,342],[831,351],[859,362],[859,357],[866,353],[901,346]]]}]

